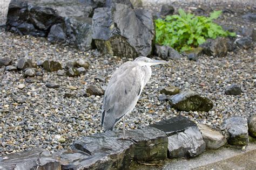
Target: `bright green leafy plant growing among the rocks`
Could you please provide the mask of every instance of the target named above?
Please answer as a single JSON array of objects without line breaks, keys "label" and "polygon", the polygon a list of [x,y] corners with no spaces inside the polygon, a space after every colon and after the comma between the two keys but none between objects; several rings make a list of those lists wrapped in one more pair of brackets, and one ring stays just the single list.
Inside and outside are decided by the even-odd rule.
[{"label": "bright green leafy plant growing among the rocks", "polygon": [[179,9],[179,15],[155,20],[156,42],[183,52],[198,47],[207,38],[235,36],[234,32],[224,31],[213,23],[220,15],[221,11],[214,11],[210,17],[194,16]]}]

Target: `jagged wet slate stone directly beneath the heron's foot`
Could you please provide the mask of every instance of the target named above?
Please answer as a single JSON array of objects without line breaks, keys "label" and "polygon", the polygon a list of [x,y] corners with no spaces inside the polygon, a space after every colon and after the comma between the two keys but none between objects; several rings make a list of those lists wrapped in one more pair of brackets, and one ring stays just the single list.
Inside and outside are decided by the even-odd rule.
[{"label": "jagged wet slate stone directly beneath the heron's foot", "polygon": [[119,169],[127,166],[126,159],[131,159],[128,150],[133,144],[121,138],[118,132],[107,131],[76,140],[71,148],[89,155],[89,158],[79,162],[83,168]]}]

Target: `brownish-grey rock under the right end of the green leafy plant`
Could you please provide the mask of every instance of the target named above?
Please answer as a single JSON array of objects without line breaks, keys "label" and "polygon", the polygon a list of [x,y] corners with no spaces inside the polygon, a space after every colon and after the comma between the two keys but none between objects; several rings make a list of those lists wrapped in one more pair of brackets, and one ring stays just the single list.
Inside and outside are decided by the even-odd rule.
[{"label": "brownish-grey rock under the right end of the green leafy plant", "polygon": [[227,38],[207,39],[203,44],[199,45],[203,48],[203,53],[210,56],[224,57],[227,55],[229,45]]}]

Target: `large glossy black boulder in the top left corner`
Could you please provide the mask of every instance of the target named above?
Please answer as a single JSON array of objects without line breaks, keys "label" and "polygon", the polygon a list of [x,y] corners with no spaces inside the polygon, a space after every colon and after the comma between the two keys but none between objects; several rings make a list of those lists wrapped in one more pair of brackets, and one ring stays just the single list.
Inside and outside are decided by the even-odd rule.
[{"label": "large glossy black boulder in the top left corner", "polygon": [[84,1],[23,1],[9,4],[6,29],[21,35],[48,37],[82,50],[91,49],[93,9]]}]

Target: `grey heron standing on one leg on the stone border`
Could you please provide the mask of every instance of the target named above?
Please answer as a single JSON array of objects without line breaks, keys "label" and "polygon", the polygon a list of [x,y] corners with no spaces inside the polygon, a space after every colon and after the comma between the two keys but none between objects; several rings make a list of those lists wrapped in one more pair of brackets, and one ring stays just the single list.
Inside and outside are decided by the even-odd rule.
[{"label": "grey heron standing on one leg on the stone border", "polygon": [[168,63],[139,56],[134,61],[123,63],[112,75],[105,90],[102,106],[101,127],[103,131],[113,130],[123,118],[125,138],[125,115],[135,107],[140,94],[151,77],[153,65]]}]

